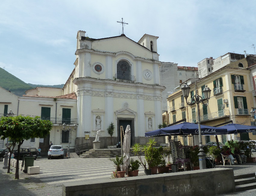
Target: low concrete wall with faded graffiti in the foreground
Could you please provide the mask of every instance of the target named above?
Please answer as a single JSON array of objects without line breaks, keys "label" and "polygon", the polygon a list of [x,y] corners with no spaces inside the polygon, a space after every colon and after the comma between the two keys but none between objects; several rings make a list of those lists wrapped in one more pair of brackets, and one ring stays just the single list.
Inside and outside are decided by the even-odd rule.
[{"label": "low concrete wall with faded graffiti in the foreground", "polygon": [[179,173],[64,183],[62,196],[211,196],[235,191],[233,169],[214,168]]}]

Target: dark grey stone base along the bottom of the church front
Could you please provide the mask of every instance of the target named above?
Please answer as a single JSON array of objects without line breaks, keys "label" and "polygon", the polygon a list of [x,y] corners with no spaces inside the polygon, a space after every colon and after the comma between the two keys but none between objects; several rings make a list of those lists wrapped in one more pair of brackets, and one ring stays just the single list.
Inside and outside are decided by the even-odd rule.
[{"label": "dark grey stone base along the bottom of the church front", "polygon": [[[155,139],[157,141],[156,146],[160,146],[160,143],[165,143],[165,137],[135,137],[135,143],[145,144],[148,142],[149,139]],[[95,137],[90,137],[88,140],[86,140],[84,137],[76,137],[75,145],[80,145],[84,143],[89,143],[90,147],[89,149],[93,148],[93,141],[95,140]],[[100,148],[107,148],[108,146],[111,146],[111,137],[99,137]],[[112,144],[117,144],[117,137],[112,137]]]}]

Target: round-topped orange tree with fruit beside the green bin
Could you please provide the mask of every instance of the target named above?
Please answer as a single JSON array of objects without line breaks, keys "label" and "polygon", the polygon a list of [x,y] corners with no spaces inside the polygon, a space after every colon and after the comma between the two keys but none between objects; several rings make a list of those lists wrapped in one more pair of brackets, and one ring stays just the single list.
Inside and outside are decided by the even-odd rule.
[{"label": "round-topped orange tree with fruit beside the green bin", "polygon": [[48,120],[41,120],[39,116],[3,116],[0,119],[0,135],[2,135],[2,139],[9,137],[13,145],[15,143],[18,144],[15,179],[19,179],[20,146],[23,144],[24,140],[29,140],[33,137],[45,137],[50,133],[51,129],[52,123]]}]

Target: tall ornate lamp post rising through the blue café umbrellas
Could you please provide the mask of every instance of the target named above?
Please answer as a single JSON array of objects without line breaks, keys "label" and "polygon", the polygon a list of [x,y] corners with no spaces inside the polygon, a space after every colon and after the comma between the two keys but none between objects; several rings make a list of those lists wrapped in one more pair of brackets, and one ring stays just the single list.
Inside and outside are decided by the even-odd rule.
[{"label": "tall ornate lamp post rising through the blue caf\u00e9 umbrellas", "polygon": [[198,113],[198,132],[199,132],[199,154],[198,154],[198,158],[199,158],[199,167],[200,170],[201,169],[206,169],[206,164],[205,164],[205,153],[203,150],[203,145],[202,145],[202,135],[201,135],[201,125],[200,125],[200,115],[199,115],[199,104],[202,103],[205,106],[208,106],[209,104],[209,99],[210,99],[210,95],[211,95],[211,90],[210,88],[205,85],[203,93],[204,93],[204,97],[207,101],[207,103],[205,104],[203,102],[203,98],[198,95],[198,90],[197,90],[197,86],[196,86],[196,81],[195,81],[195,95],[192,96],[191,98],[191,102],[187,101],[188,97],[189,97],[189,93],[190,93],[190,87],[189,85],[185,82],[183,87],[181,88],[182,93],[183,93],[183,97],[186,99],[186,103],[188,105],[193,105],[193,101],[196,103],[197,105],[197,113]]}]

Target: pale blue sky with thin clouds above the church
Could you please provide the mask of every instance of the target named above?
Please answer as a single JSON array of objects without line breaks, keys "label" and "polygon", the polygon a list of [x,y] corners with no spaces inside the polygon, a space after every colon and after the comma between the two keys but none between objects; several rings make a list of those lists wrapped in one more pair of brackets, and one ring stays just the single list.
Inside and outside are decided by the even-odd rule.
[{"label": "pale blue sky with thin clouds above the church", "polygon": [[254,54],[256,1],[1,0],[0,67],[26,83],[63,84],[77,31],[90,38],[158,36],[159,60],[194,66],[228,52]]}]

